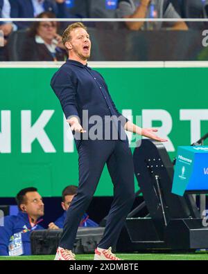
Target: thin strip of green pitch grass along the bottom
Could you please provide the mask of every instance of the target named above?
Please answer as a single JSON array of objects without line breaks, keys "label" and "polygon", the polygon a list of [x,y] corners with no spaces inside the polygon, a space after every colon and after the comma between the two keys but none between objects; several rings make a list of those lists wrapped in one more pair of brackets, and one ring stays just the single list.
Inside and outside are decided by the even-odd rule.
[{"label": "thin strip of green pitch grass along the bottom", "polygon": [[[124,260],[207,260],[208,253],[132,253],[116,254]],[[54,255],[33,255],[19,257],[0,257],[0,260],[53,260]],[[76,255],[77,260],[92,260],[94,255]]]}]

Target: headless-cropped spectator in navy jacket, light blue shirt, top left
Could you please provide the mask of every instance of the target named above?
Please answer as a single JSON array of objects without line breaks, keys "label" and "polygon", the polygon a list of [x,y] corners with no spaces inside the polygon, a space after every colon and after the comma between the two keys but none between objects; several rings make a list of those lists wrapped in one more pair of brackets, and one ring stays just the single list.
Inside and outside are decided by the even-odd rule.
[{"label": "headless-cropped spectator in navy jacket, light blue shirt, top left", "polygon": [[[74,17],[69,15],[65,0],[10,0],[12,18],[33,18],[42,12],[53,12],[58,18]],[[29,26],[27,22],[15,22],[18,28]]]}]

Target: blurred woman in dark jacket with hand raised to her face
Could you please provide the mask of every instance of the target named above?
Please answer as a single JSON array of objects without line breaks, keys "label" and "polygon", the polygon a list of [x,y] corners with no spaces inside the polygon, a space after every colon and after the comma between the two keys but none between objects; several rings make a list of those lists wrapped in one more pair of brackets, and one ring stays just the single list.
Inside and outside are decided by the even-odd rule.
[{"label": "blurred woman in dark jacket with hand raised to her face", "polygon": [[[42,12],[37,18],[55,18],[52,12]],[[58,35],[58,22],[34,22],[25,39],[21,61],[64,61],[67,53]]]}]

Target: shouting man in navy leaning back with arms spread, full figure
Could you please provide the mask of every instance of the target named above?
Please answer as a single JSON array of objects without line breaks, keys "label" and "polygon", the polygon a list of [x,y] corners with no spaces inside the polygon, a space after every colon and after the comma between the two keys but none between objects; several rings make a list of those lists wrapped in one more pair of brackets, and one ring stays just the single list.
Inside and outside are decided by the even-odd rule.
[{"label": "shouting man in navy leaning back with arms spread, full figure", "polygon": [[114,184],[114,200],[94,259],[118,260],[111,247],[116,246],[135,200],[134,165],[125,130],[158,141],[166,140],[154,134],[157,129],[141,129],[116,109],[101,74],[87,66],[91,42],[87,28],[82,23],[69,25],[62,42],[69,51],[69,60],[53,75],[51,86],[60,100],[71,130],[75,132],[79,184],[78,193],[67,210],[55,259],[75,259],[71,250],[80,219],[89,206],[107,163]]}]

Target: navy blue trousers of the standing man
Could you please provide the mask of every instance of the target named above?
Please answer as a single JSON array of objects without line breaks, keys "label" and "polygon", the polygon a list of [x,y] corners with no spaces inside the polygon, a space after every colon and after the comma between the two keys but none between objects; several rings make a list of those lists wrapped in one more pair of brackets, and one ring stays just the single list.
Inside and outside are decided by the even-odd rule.
[{"label": "navy blue trousers of the standing man", "polygon": [[114,185],[114,199],[98,247],[106,249],[116,246],[125,219],[135,200],[134,165],[128,142],[82,140],[78,147],[78,156],[78,193],[67,210],[60,247],[72,250],[80,220],[96,191],[105,163]]}]

